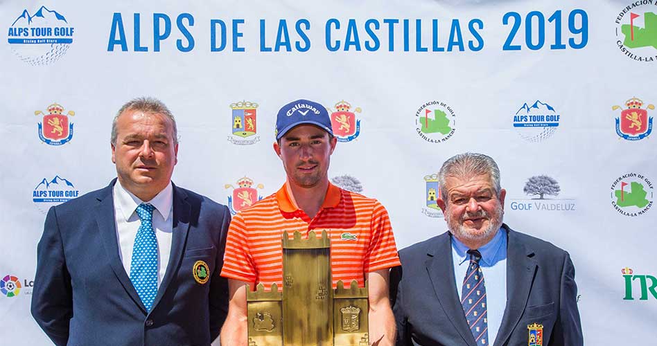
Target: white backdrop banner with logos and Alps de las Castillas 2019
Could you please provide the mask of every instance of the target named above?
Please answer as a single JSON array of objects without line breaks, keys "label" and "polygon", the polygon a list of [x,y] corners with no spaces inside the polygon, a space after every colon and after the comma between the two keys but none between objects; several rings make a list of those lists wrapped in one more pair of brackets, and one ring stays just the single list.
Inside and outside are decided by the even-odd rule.
[{"label": "white backdrop banner with logos and Alps de las Castillas 2019", "polygon": [[[116,176],[121,104],[177,118],[173,181],[230,204],[285,175],[275,113],[331,112],[331,179],[379,199],[399,248],[446,230],[436,173],[496,159],[505,222],[570,252],[586,345],[657,320],[657,1],[2,1],[0,334],[30,316],[45,212]],[[36,278],[38,279],[38,278]]]}]

